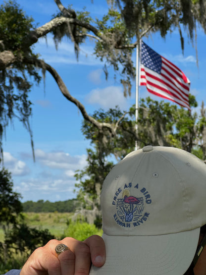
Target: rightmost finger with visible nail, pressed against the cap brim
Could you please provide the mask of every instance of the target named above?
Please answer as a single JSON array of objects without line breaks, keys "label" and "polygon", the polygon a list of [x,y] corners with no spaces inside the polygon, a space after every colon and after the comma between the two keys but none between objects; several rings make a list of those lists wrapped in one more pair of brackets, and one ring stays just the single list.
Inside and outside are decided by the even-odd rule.
[{"label": "rightmost finger with visible nail, pressed against the cap brim", "polygon": [[86,243],[90,248],[92,263],[96,267],[102,267],[105,263],[105,244],[103,238],[98,235],[93,235],[87,238]]}]

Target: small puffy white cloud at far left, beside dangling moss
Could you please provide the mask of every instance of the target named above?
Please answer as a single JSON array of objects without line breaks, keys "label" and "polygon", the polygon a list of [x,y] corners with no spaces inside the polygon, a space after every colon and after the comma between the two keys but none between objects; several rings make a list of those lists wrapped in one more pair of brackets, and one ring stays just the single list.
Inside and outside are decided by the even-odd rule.
[{"label": "small puffy white cloud at far left, beside dangling moss", "polygon": [[23,176],[30,173],[29,167],[22,161],[15,159],[10,153],[3,153],[3,165],[14,176]]}]

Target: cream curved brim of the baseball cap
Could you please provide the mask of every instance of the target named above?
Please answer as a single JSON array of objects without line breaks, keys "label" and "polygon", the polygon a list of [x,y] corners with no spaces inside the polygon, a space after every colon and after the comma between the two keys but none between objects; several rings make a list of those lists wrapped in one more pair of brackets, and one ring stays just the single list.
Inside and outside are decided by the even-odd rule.
[{"label": "cream curved brim of the baseball cap", "polygon": [[155,236],[103,234],[106,261],[92,275],[183,275],[197,249],[200,228]]}]

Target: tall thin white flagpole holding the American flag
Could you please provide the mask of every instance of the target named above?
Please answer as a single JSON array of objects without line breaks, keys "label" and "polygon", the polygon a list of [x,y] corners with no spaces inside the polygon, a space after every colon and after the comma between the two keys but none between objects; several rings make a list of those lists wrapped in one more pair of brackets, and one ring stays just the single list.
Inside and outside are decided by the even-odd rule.
[{"label": "tall thin white flagpole holding the American flag", "polygon": [[139,102],[139,56],[140,56],[140,41],[136,46],[136,99],[135,99],[135,150],[138,149],[138,102]]}]

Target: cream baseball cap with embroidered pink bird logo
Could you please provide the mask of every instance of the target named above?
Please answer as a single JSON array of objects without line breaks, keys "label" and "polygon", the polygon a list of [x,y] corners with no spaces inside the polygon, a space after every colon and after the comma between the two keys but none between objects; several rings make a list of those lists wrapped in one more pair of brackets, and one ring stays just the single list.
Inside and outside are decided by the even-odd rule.
[{"label": "cream baseball cap with embroidered pink bird logo", "polygon": [[206,165],[173,147],[128,154],[103,182],[106,261],[92,275],[183,275],[206,223]]}]

